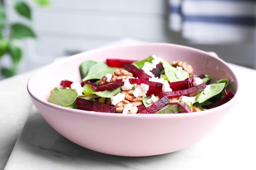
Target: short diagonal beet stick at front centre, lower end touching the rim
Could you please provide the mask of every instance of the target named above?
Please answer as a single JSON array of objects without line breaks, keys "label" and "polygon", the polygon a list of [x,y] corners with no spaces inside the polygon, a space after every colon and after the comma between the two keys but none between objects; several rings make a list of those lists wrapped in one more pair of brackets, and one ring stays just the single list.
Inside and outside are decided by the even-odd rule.
[{"label": "short diagonal beet stick at front centre, lower end touching the rim", "polygon": [[167,103],[169,103],[169,101],[170,101],[169,98],[165,95],[165,96],[161,97],[161,99],[159,99],[158,101],[156,101],[155,103],[153,103],[152,105],[147,107],[146,109],[141,110],[139,113],[140,114],[146,114],[146,113],[154,114],[158,110],[162,109],[165,105],[167,105]]}]

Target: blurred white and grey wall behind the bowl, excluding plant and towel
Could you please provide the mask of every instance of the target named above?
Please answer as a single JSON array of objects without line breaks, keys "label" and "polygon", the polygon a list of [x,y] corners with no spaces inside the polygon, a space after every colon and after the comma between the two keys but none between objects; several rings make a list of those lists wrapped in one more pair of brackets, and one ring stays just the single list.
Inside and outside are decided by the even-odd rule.
[{"label": "blurred white and grey wall behind the bowl, excluding plant and towel", "polygon": [[[26,41],[21,70],[51,63],[55,57],[70,56],[133,37],[148,42],[184,44],[215,51],[230,63],[256,68],[255,44],[196,45],[168,29],[167,0],[50,0],[52,7],[33,5],[33,27],[38,38]],[[9,5],[10,20],[16,20]]]}]

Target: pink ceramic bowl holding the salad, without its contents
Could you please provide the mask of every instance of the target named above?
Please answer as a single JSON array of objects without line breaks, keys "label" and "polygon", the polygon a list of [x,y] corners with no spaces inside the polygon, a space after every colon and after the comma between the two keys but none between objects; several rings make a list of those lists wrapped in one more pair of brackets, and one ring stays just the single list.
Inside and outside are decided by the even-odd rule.
[{"label": "pink ceramic bowl holding the salad, without its contents", "polygon": [[[228,78],[234,98],[215,109],[184,114],[115,114],[68,109],[48,102],[60,80],[79,77],[86,59],[144,59],[152,54],[167,61],[187,61],[195,74]],[[228,65],[207,52],[165,43],[104,48],[77,54],[35,73],[28,82],[33,104],[58,133],[85,148],[117,156],[154,156],[191,146],[207,135],[230,112],[238,98],[238,80]]]}]

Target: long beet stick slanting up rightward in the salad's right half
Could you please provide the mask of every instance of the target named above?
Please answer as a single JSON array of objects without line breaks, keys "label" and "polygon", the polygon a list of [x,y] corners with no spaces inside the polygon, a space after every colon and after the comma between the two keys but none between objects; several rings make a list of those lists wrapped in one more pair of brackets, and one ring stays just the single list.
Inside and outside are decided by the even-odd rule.
[{"label": "long beet stick slanting up rightward in the salad's right half", "polygon": [[163,97],[167,95],[170,99],[174,97],[179,97],[181,95],[188,95],[190,93],[195,93],[198,92],[198,90],[201,90],[206,87],[206,84],[203,82],[202,84],[199,84],[198,86],[194,86],[192,88],[188,88],[185,90],[178,90],[178,91],[173,91],[173,92],[161,92],[159,93],[160,97]]}]

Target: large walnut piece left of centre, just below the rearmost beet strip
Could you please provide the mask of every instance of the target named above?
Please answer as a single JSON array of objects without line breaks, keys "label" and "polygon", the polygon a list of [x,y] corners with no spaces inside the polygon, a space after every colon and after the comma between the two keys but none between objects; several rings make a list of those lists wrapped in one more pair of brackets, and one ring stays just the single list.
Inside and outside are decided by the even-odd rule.
[{"label": "large walnut piece left of centre, just below the rearmost beet strip", "polygon": [[108,84],[110,82],[115,82],[117,79],[130,78],[130,77],[133,77],[133,73],[130,73],[129,71],[127,71],[125,69],[119,69],[119,70],[115,71],[114,73],[112,73],[112,78],[108,78],[107,75],[104,75],[100,79],[98,84],[104,85],[104,84]]}]

